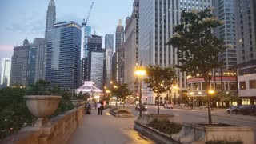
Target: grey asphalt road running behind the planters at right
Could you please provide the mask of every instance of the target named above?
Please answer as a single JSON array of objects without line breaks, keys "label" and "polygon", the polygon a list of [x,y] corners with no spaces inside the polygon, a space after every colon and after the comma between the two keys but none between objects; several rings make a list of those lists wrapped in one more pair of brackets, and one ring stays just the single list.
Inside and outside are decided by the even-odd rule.
[{"label": "grey asphalt road running behind the planters at right", "polygon": [[[160,107],[160,113],[162,114],[173,114],[174,122],[198,122],[198,123],[208,123],[208,113],[207,110],[186,110],[186,109],[164,109],[163,106]],[[157,106],[147,106],[148,110],[142,113],[156,114]],[[134,115],[138,115],[138,111],[131,108]],[[214,123],[226,123],[236,126],[253,126],[256,128],[256,117],[247,115],[234,115],[226,114],[226,109],[214,109],[211,111],[212,121]]]}]

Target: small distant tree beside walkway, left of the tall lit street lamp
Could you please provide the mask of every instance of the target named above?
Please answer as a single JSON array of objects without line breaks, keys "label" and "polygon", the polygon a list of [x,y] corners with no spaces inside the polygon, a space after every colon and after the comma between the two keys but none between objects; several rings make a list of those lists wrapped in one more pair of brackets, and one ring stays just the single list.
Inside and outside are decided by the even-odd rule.
[{"label": "small distant tree beside walkway, left of the tall lit street lamp", "polygon": [[125,98],[127,95],[133,94],[132,91],[128,89],[127,83],[117,84],[117,88],[113,89],[113,94],[118,98]]}]

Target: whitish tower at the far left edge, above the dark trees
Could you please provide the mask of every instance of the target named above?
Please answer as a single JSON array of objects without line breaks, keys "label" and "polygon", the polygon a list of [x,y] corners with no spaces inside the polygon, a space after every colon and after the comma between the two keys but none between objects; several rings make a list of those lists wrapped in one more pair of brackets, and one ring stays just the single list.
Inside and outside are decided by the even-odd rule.
[{"label": "whitish tower at the far left edge, above the dark trees", "polygon": [[11,68],[11,59],[2,58],[0,88],[10,86],[10,68]]}]

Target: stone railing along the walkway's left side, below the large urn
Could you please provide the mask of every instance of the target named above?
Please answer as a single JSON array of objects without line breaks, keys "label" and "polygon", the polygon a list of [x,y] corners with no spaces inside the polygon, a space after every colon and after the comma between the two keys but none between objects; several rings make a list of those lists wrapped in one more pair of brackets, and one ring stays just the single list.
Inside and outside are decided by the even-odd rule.
[{"label": "stone railing along the walkway's left side, below the large urn", "polygon": [[51,126],[24,127],[16,134],[0,141],[4,144],[56,144],[67,143],[71,134],[82,124],[84,106],[79,106],[51,119]]}]

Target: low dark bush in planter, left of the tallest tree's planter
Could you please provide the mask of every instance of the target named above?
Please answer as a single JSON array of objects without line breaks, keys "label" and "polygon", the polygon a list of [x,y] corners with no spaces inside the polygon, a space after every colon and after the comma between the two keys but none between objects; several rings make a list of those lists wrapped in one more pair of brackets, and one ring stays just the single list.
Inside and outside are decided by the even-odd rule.
[{"label": "low dark bush in planter, left of the tallest tree's planter", "polygon": [[170,122],[166,119],[162,121],[154,119],[152,122],[148,124],[148,126],[151,126],[152,128],[159,130],[165,134],[176,134],[182,129],[181,124]]}]

